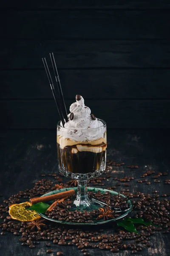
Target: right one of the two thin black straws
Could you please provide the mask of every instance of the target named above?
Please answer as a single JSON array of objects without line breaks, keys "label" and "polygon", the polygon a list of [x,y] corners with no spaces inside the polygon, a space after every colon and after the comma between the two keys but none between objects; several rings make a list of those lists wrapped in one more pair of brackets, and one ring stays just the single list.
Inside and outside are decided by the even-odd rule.
[{"label": "right one of the two thin black straws", "polygon": [[54,70],[54,74],[55,74],[55,78],[56,78],[56,82],[57,82],[57,87],[58,87],[58,90],[59,90],[59,96],[60,96],[60,99],[61,99],[61,102],[62,102],[63,116],[65,118],[65,122],[68,122],[67,110],[66,110],[66,107],[65,107],[64,97],[63,97],[63,94],[62,94],[61,83],[60,83],[60,80],[59,80],[59,74],[58,74],[58,71],[57,71],[56,62],[55,62],[55,59],[54,59],[53,52],[50,52],[50,57],[51,57],[51,62],[52,62],[52,65],[53,65],[53,70]]}]

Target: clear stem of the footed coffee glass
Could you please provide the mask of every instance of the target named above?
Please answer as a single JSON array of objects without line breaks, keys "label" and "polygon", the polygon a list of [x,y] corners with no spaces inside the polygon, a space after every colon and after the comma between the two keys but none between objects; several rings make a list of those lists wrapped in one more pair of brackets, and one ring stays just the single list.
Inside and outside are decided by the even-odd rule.
[{"label": "clear stem of the footed coffee glass", "polygon": [[89,207],[91,202],[87,194],[87,180],[77,180],[77,197],[74,201],[77,207]]}]

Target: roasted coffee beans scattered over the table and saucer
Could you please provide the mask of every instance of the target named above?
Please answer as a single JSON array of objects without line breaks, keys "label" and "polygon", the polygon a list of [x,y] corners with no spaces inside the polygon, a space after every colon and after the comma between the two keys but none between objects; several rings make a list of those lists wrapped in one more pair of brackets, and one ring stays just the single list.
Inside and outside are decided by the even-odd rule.
[{"label": "roasted coffee beans scattered over the table and saucer", "polygon": [[[124,165],[120,163],[119,166]],[[133,180],[133,177],[115,177],[110,171],[112,166],[117,166],[117,163],[112,160],[107,160],[107,168],[105,175],[101,178],[91,179],[89,185],[95,185],[97,183],[107,182],[109,178],[112,180],[117,180],[121,185],[124,183],[129,183]],[[119,168],[118,166],[118,168]],[[113,176],[112,176],[113,175]],[[141,174],[139,174],[140,176]],[[153,177],[153,175],[159,177]],[[167,173],[155,174],[154,171],[147,171],[142,174],[142,178],[146,179],[147,176],[153,177],[153,180],[161,179]],[[8,233],[13,233],[14,236],[18,236],[21,246],[26,246],[30,250],[38,247],[39,244],[44,241],[46,247],[46,253],[55,253],[57,256],[62,256],[62,246],[76,246],[77,250],[81,251],[83,255],[90,255],[91,250],[98,248],[99,250],[108,250],[111,253],[118,253],[121,250],[130,250],[132,254],[136,254],[142,250],[146,250],[147,247],[152,246],[151,237],[154,236],[156,232],[161,232],[163,234],[168,234],[170,231],[170,201],[168,200],[169,194],[160,194],[156,189],[149,193],[142,193],[139,191],[130,192],[130,189],[124,189],[121,193],[127,198],[130,198],[133,204],[133,211],[130,214],[131,218],[143,218],[144,221],[150,221],[159,227],[154,227],[148,225],[136,225],[136,230],[140,233],[130,233],[123,228],[116,227],[114,222],[110,222],[109,226],[114,226],[109,229],[109,227],[103,226],[105,229],[100,229],[100,226],[87,230],[85,227],[69,228],[68,226],[63,226],[56,224],[52,221],[44,220],[45,226],[41,226],[41,230],[28,229],[29,223],[20,222],[12,220],[8,215],[9,205],[19,204],[24,201],[28,201],[29,198],[43,195],[46,192],[51,191],[54,184],[58,181],[62,182],[62,176],[57,176],[56,174],[49,174],[48,178],[44,178],[45,174],[41,175],[43,178],[37,181],[33,188],[26,189],[25,191],[19,191],[16,195],[11,195],[8,200],[4,200],[0,203],[0,235],[6,236]],[[53,182],[51,179],[55,179]],[[100,181],[99,181],[100,180]],[[92,181],[92,182],[91,182]],[[138,182],[138,180],[137,180]],[[143,182],[149,182],[143,180]],[[166,184],[170,183],[169,179],[164,180]],[[107,185],[107,184],[105,184]],[[63,186],[70,187],[74,186],[74,183],[63,183]],[[117,186],[117,185],[116,185]],[[114,190],[116,186],[108,187]],[[119,186],[119,185],[118,185]],[[141,186],[141,185],[139,185]],[[115,205],[122,207],[127,207],[127,199],[122,198],[120,195],[112,196],[109,192],[104,194],[93,192],[89,193],[89,197],[94,197],[99,200],[107,201],[108,204],[115,207]],[[69,213],[71,198],[68,198],[62,203],[56,204],[54,207],[55,215],[51,218],[63,218],[66,221],[77,221],[77,223],[82,223],[83,221],[91,222],[93,221],[95,211],[92,212],[71,212]],[[54,217],[53,217],[54,216]],[[62,220],[63,220],[62,219]],[[59,250],[61,246],[61,250]],[[146,252],[145,252],[146,253]]]}]

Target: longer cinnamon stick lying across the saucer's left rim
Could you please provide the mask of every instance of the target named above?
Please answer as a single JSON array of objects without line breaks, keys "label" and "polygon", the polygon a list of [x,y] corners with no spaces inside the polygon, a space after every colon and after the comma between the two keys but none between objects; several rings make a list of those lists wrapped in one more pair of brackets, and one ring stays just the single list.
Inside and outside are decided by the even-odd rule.
[{"label": "longer cinnamon stick lying across the saucer's left rim", "polygon": [[43,197],[30,198],[29,201],[30,201],[31,204],[37,204],[37,203],[40,203],[40,202],[47,202],[47,201],[51,201],[51,200],[65,198],[65,197],[68,197],[68,196],[71,196],[71,195],[74,195],[74,194],[75,194],[74,189],[71,189],[71,190],[68,190],[68,191],[65,191],[65,192],[60,192],[60,193],[57,193],[57,194],[54,194],[54,195],[46,195],[46,196],[43,196]]}]

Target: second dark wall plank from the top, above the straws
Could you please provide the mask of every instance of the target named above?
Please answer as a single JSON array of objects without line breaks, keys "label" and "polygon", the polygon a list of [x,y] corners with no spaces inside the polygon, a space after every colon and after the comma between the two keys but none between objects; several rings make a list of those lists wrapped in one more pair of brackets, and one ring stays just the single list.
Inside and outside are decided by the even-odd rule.
[{"label": "second dark wall plank from the top, above the straws", "polygon": [[6,11],[1,14],[1,38],[170,38],[169,17],[168,9]]}]

